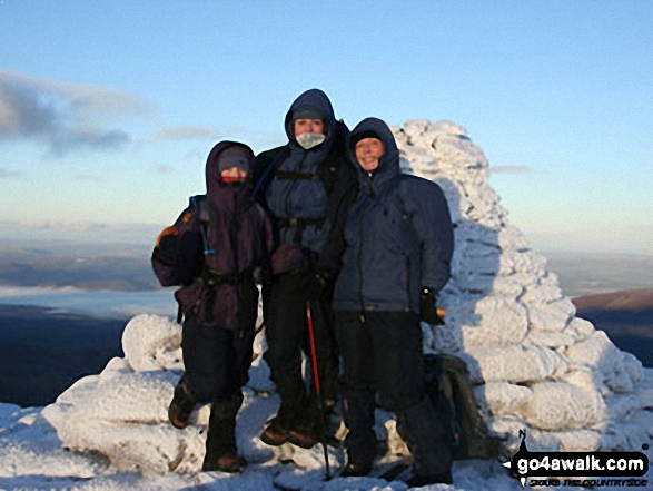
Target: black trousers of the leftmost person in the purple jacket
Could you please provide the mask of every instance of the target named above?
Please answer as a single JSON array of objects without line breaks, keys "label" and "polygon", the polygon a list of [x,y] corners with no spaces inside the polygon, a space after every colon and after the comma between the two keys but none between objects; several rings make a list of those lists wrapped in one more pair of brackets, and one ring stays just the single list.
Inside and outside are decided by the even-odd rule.
[{"label": "black trousers of the leftmost person in the purple jacket", "polygon": [[240,393],[249,381],[254,326],[211,327],[190,315],[184,321],[182,340],[186,376],[198,402],[220,403]]}]

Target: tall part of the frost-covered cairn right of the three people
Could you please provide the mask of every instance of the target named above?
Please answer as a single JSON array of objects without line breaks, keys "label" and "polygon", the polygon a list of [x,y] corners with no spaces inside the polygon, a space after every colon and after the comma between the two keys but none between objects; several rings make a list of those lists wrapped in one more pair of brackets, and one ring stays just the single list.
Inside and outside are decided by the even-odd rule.
[{"label": "tall part of the frost-covered cairn right of the three people", "polygon": [[[640,450],[653,438],[651,371],[575,317],[546,259],[507,220],[488,163],[448,121],[394,128],[404,168],[441,185],[455,223],[446,325],[425,351],[461,355],[491,428],[532,448]],[[644,376],[646,373],[646,376]]]}]

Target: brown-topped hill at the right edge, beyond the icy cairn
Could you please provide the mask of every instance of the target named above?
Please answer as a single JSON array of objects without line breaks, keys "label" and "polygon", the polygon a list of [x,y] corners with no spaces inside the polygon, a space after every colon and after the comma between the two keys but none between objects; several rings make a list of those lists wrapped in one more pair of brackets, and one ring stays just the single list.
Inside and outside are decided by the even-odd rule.
[{"label": "brown-topped hill at the right edge, beyond the icy cairn", "polygon": [[627,289],[572,298],[576,315],[605,331],[620,350],[653,366],[653,289]]}]

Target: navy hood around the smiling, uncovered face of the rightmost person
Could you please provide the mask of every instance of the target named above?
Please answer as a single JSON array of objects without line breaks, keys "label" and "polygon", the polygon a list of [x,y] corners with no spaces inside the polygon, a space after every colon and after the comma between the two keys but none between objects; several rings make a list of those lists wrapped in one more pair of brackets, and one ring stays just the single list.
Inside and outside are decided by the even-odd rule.
[{"label": "navy hood around the smiling, uncovered face of the rightmost person", "polygon": [[378,118],[366,118],[356,125],[356,128],[352,131],[347,139],[347,149],[349,151],[349,157],[354,167],[358,171],[359,176],[367,176],[367,173],[358,160],[356,159],[356,153],[354,151],[354,147],[356,143],[363,138],[378,138],[383,141],[384,154],[378,159],[378,167],[373,170],[373,175],[377,176],[383,174],[385,175],[394,175],[399,174],[399,149],[397,148],[397,144],[395,141],[395,136],[390,128],[385,124],[385,121]]}]

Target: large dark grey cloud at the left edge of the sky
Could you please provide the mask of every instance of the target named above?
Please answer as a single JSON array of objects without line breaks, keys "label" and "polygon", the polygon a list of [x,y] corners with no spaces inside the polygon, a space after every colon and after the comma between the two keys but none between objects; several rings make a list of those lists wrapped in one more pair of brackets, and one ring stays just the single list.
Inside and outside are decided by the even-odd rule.
[{"label": "large dark grey cloud at the left edge of the sky", "polygon": [[0,140],[42,141],[56,156],[118,149],[131,137],[109,125],[148,112],[144,101],[117,90],[0,69]]}]

